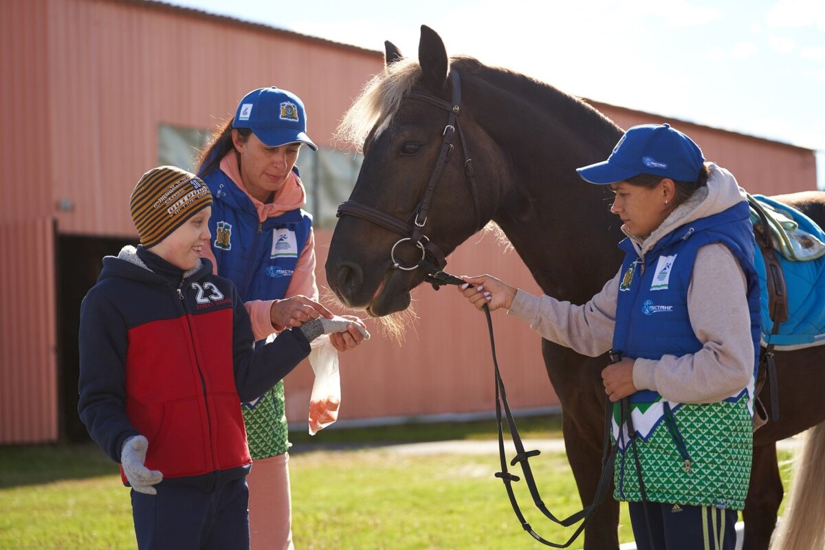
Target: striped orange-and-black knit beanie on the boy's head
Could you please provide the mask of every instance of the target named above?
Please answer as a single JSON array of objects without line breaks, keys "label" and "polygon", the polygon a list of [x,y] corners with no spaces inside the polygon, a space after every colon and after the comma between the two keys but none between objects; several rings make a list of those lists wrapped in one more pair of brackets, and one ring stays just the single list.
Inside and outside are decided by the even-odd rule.
[{"label": "striped orange-and-black knit beanie on the boy's head", "polygon": [[182,168],[152,168],[134,186],[130,199],[132,221],[140,244],[153,247],[192,216],[212,205],[209,187]]}]

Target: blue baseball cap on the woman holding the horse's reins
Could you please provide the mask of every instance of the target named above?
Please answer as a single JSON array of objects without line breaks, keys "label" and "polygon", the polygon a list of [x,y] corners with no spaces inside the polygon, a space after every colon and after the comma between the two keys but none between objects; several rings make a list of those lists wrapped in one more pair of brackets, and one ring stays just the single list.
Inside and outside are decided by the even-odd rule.
[{"label": "blue baseball cap on the woman holding the horse's reins", "polygon": [[705,163],[692,139],[670,125],[639,125],[627,130],[606,161],[576,168],[584,181],[607,185],[639,174],[697,181]]}]

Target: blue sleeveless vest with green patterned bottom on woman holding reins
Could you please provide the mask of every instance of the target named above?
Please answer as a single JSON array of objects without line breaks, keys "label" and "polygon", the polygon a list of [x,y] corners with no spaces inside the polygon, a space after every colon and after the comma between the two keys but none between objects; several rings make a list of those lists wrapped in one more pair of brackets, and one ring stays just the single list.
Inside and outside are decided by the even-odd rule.
[{"label": "blue sleeveless vest with green patterned bottom on woman holding reins", "polygon": [[[739,262],[747,281],[753,378],[747,388],[721,403],[667,402],[642,390],[629,397],[637,448],[614,407],[613,437],[620,444],[615,498],[640,501],[637,453],[649,501],[713,505],[742,510],[752,460],[752,388],[761,331],[760,289],[753,265],[755,242],[747,202],[674,229],[639,259],[629,239],[620,242],[622,263],[613,349],[631,359],[693,354],[702,348],[691,327],[687,290],[696,253],[721,243]],[[736,274],[719,274],[732,276]],[[738,276],[738,275],[736,275]]]}]

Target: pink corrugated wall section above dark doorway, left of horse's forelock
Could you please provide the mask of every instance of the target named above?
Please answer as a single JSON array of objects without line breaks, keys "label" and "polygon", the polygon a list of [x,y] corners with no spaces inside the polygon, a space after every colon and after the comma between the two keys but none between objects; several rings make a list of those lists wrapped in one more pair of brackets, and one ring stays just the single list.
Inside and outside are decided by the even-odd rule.
[{"label": "pink corrugated wall section above dark doorway, left of horse's forelock", "polygon": [[377,52],[172,7],[49,0],[48,12],[54,200],[75,204],[58,214],[61,233],[134,234],[129,195],[158,162],[158,125],[213,129],[244,93],[276,85],[301,96],[309,134],[330,146],[351,97],[382,67]]}]

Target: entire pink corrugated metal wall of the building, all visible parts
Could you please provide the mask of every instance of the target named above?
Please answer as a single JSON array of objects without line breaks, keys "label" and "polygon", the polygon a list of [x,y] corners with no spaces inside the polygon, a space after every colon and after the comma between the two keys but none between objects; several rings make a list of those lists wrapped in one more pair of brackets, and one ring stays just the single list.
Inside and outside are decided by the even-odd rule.
[{"label": "entire pink corrugated metal wall of the building, all visible parts", "polygon": [[[309,133],[330,146],[351,98],[382,69],[378,52],[137,0],[0,1],[0,63],[0,443],[57,437],[54,220],[61,234],[134,236],[128,197],[158,162],[158,125],[213,128],[253,87],[297,92]],[[210,78],[215,68],[220,78]],[[624,127],[661,121],[603,108]],[[815,186],[809,151],[695,125],[686,131],[749,190]],[[322,286],[330,235],[316,237]],[[450,270],[490,272],[537,291],[516,253],[504,254],[491,236],[455,251]],[[375,339],[342,355],[342,419],[493,410],[483,315],[453,288],[422,286],[414,298],[419,319],[403,343],[370,321]],[[494,322],[513,407],[557,404],[538,336],[503,313]],[[305,419],[311,384],[309,365],[287,379],[290,421]]]}]

